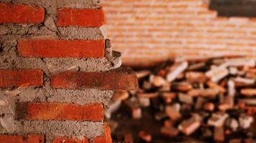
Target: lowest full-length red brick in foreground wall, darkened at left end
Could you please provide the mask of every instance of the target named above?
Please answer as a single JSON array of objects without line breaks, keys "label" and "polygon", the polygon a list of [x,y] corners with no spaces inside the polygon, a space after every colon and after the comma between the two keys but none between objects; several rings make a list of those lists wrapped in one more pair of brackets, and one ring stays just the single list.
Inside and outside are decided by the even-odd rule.
[{"label": "lowest full-length red brick in foreground wall, darkened at left end", "polygon": [[102,121],[104,119],[104,107],[100,103],[82,106],[22,102],[17,103],[17,119]]}]

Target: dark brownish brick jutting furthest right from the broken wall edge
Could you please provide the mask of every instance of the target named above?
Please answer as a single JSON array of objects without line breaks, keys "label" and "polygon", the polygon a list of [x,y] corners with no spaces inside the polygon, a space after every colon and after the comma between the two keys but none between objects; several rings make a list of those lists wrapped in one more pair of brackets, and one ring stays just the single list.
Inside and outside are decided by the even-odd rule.
[{"label": "dark brownish brick jutting furthest right from the broken wall edge", "polygon": [[137,76],[128,69],[113,69],[104,72],[65,71],[52,77],[56,89],[123,89],[135,90]]}]

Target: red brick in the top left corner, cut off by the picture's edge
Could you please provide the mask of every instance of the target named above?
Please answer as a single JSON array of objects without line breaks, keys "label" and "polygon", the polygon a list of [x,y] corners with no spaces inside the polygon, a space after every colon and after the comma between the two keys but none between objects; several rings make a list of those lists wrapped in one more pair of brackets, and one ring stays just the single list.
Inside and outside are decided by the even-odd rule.
[{"label": "red brick in the top left corner, cut off by the picture's edge", "polygon": [[0,23],[41,23],[45,10],[41,6],[0,3]]}]

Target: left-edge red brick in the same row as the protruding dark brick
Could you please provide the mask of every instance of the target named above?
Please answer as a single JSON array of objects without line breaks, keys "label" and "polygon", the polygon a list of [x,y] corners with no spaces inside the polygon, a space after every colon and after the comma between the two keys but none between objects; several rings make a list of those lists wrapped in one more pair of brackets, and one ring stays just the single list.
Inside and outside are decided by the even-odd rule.
[{"label": "left-edge red brick in the same row as the protruding dark brick", "polygon": [[40,87],[42,83],[40,69],[0,69],[0,87]]}]

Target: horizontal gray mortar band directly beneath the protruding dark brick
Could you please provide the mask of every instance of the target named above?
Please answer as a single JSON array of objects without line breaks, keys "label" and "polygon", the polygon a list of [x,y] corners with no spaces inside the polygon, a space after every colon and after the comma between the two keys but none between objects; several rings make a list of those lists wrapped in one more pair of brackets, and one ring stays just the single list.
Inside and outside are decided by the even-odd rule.
[{"label": "horizontal gray mortar band directly beneath the protruding dark brick", "polygon": [[51,89],[47,86],[42,88],[31,87],[7,90],[1,89],[0,94],[0,100],[6,100],[7,97],[12,97],[14,99],[11,99],[14,100],[14,102],[55,102],[81,105],[99,102],[103,103],[104,107],[107,108],[109,99],[111,98],[111,95],[114,94],[114,92],[111,90],[99,89]]}]

